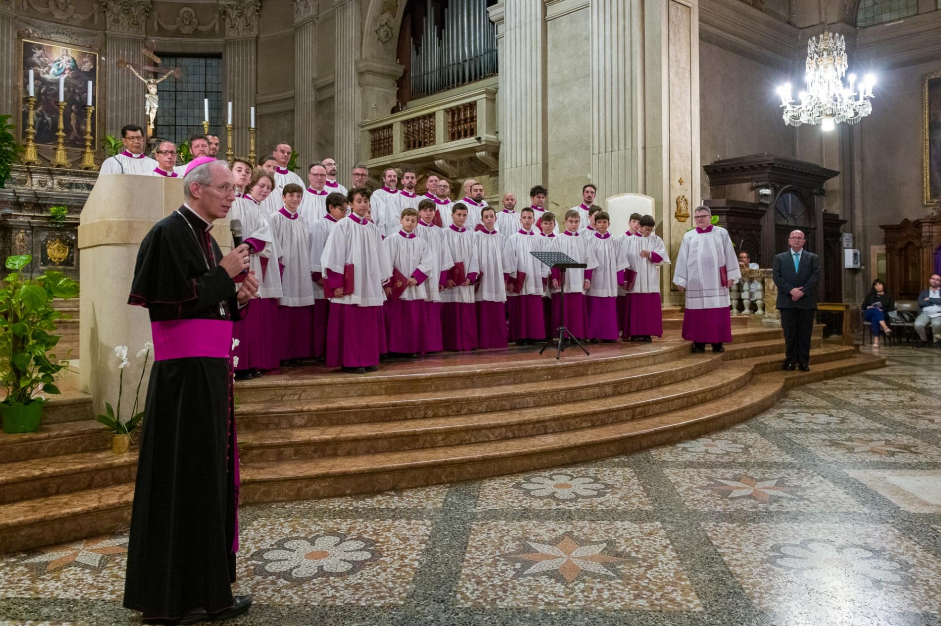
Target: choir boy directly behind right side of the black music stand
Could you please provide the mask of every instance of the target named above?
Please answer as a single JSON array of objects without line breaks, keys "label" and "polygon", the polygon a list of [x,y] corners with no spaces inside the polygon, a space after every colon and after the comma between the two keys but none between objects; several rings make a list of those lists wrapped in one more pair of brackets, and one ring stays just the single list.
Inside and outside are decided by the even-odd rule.
[{"label": "choir boy directly behind right side of the black music stand", "polygon": [[[578,233],[581,223],[579,211],[566,212],[566,229],[558,237],[557,251],[572,258],[576,263],[586,263],[588,267],[566,270],[565,285],[552,290],[552,327],[562,325],[562,294],[566,291],[565,325],[572,335],[583,339],[588,336],[588,303],[585,291],[591,287],[592,274],[598,267],[595,250],[588,243],[587,237]],[[554,286],[553,286],[554,287]]]}]

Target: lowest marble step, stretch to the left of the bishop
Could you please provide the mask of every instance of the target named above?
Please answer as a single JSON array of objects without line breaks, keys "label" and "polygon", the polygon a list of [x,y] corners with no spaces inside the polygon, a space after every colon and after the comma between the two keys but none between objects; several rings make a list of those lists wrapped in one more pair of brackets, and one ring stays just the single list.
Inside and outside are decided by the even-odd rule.
[{"label": "lowest marble step, stretch to the left of the bishop", "polygon": [[128,483],[0,505],[0,554],[127,528],[133,501]]}]

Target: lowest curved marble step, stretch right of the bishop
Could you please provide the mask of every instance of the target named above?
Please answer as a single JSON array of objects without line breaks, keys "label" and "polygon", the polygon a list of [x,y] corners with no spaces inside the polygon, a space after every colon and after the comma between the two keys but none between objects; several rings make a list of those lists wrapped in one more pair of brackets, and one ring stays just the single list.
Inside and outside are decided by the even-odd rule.
[{"label": "lowest curved marble step, stretch right of the bishop", "polygon": [[[885,358],[855,355],[829,364],[831,376],[879,368]],[[246,462],[242,468],[244,503],[376,493],[443,482],[499,476],[599,459],[680,441],[726,428],[769,408],[785,389],[786,378],[799,384],[814,372],[769,372],[726,397],[645,418],[580,430],[441,446],[294,461]],[[787,376],[786,376],[787,374]]]}]

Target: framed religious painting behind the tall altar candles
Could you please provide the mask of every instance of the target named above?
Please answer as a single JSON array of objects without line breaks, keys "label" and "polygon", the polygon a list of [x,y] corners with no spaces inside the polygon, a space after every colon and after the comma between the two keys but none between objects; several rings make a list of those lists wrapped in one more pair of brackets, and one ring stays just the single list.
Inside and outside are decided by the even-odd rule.
[{"label": "framed religious painting behind the tall altar candles", "polygon": [[36,96],[34,126],[39,146],[55,146],[58,131],[59,79],[64,79],[65,115],[63,131],[67,149],[85,148],[88,81],[92,81],[91,103],[95,111],[91,114],[92,147],[98,146],[98,53],[85,48],[76,48],[54,41],[22,39],[22,76],[20,79],[21,102],[23,102],[21,138],[24,138],[28,107],[25,96],[29,95],[29,70],[33,70],[33,89]]}]

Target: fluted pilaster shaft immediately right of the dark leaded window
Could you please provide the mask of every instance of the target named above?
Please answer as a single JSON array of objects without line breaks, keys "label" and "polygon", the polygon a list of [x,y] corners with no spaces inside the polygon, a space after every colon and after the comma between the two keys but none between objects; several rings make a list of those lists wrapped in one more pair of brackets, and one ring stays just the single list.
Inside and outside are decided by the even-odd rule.
[{"label": "fluted pilaster shaft immediately right of the dark leaded window", "polygon": [[[248,154],[248,124],[251,122],[251,107],[255,106],[258,38],[226,38],[225,51],[222,53],[222,71],[225,76],[223,101],[232,103],[232,149],[235,156],[246,157]],[[258,112],[255,112],[258,117]],[[255,120],[258,123],[258,120]],[[225,155],[228,146],[226,137],[220,137],[220,158]]]}]

